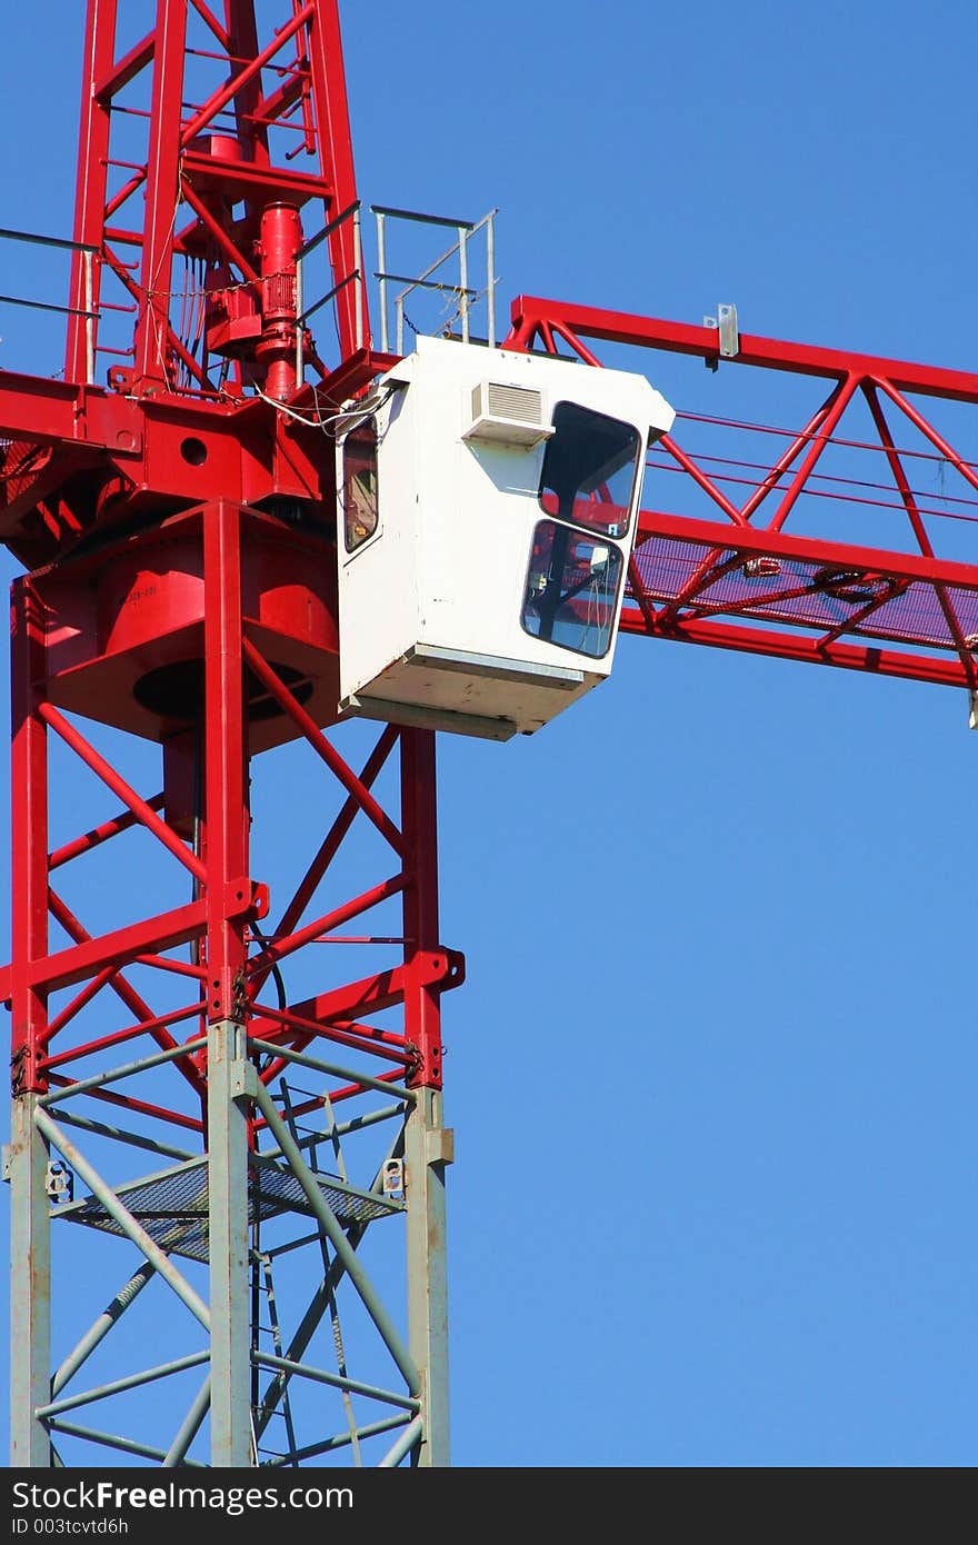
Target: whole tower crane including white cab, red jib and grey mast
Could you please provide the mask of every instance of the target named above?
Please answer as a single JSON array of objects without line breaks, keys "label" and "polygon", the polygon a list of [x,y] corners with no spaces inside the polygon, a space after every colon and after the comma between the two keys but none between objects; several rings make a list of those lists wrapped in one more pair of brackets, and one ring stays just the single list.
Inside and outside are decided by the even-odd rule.
[{"label": "whole tower crane including white cab, red jib and grey mast", "polygon": [[[0,232],[26,290],[28,255],[70,267],[66,304],[0,298],[32,323],[0,369],[12,1463],[447,1465],[465,969],[436,731],[538,731],[620,633],[973,700],[978,474],[938,420],[978,377],[749,335],[729,304],[519,295],[497,338],[491,216],[372,205],[371,314],[337,0],[85,17],[73,235]],[[419,230],[451,244],[399,273]],[[406,348],[426,301],[451,314]],[[683,355],[709,411],[649,385]],[[737,409],[752,372],[788,422]],[[295,793],[278,762],[263,782],[287,743]],[[82,776],[105,808],[79,833]]]}]

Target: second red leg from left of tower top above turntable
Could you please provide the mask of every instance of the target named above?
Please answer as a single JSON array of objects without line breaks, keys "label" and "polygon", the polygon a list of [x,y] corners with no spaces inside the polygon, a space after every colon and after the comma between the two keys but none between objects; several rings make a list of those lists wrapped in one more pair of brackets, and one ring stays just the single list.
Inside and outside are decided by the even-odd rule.
[{"label": "second red leg from left of tower top above turntable", "polygon": [[134,369],[139,389],[153,385],[162,386],[167,379],[167,328],[170,321],[185,43],[187,6],[158,5],[147,213],[142,243],[144,306],[136,329]]}]

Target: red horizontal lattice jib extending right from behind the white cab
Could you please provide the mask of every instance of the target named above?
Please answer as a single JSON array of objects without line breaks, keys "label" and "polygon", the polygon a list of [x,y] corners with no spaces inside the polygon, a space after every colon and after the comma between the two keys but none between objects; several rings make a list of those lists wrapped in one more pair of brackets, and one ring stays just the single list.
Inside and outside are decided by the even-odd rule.
[{"label": "red horizontal lattice jib extending right from behind the white cab", "polygon": [[[978,405],[978,375],[748,334],[723,357],[715,328],[536,297],[513,303],[505,348],[558,352],[558,340],[589,365],[599,363],[590,341],[603,340],[813,383],[796,428],[680,413],[649,456],[646,493],[660,507],[640,518],[623,632],[978,688],[978,567],[961,555],[963,528],[978,521],[978,468],[935,419],[942,403]],[[638,368],[655,379],[654,363]],[[861,405],[856,434],[848,425]],[[912,443],[899,443],[896,423]],[[694,443],[680,443],[697,430]],[[718,454],[700,443],[709,434]],[[735,437],[751,443],[734,456]],[[757,445],[773,437],[779,450],[765,462]],[[871,460],[865,477],[851,476],[854,459]],[[915,468],[939,493],[921,493]],[[953,508],[946,477],[958,480]],[[683,513],[664,513],[667,494]],[[867,511],[893,513],[888,541],[862,539]],[[840,518],[861,535],[840,538]]]}]

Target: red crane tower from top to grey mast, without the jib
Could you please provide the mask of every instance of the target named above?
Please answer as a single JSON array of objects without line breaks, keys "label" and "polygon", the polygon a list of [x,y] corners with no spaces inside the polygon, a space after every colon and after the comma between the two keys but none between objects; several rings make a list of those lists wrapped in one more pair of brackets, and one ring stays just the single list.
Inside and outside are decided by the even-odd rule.
[{"label": "red crane tower from top to grey mast, without the jib", "polygon": [[[464,961],[437,938],[433,735],[385,728],[357,771],[323,734],[338,700],[335,474],[315,417],[391,363],[371,349],[352,283],[352,219],[337,221],[357,190],[335,0],[227,0],[221,17],[204,0],[144,0],[145,32],[121,48],[125,9],[88,0],[74,236],[96,258],[76,253],[63,380],[0,375],[0,541],[32,570],[14,584],[15,905],[0,997],[15,1092],[171,1055],[141,1075],[145,1089],[83,1098],[202,1140],[209,1018],[281,1052],[331,1044],[354,1071],[337,1098],[363,1092],[357,1069],[439,1085],[440,995]],[[318,283],[337,287],[338,357],[323,365],[304,332],[311,388],[297,380],[297,256],[328,224]],[[122,737],[105,745],[99,725]],[[63,789],[48,788],[48,731],[122,805],[51,853]],[[131,737],[161,746],[162,793],[144,796],[127,771]],[[321,782],[298,817],[314,857],[263,925],[250,765],[286,740],[309,748]],[[379,796],[396,748],[403,788]],[[340,864],[363,864],[348,859],[352,828],[371,827],[397,871],[334,882],[317,908]],[[82,888],[82,922],[76,876],[105,844],[124,857],[134,840],[159,862],[111,898]],[[400,933],[385,919],[372,935],[385,904],[402,908]],[[391,956],[368,976],[345,972],[357,946],[314,949],[358,916],[360,942]],[[321,989],[290,1001],[284,976],[306,956]],[[184,976],[201,995],[173,1006]],[[264,1001],[272,983],[278,1006]],[[198,1044],[181,1054],[187,1029]],[[266,1057],[269,1088],[284,1068]]]}]

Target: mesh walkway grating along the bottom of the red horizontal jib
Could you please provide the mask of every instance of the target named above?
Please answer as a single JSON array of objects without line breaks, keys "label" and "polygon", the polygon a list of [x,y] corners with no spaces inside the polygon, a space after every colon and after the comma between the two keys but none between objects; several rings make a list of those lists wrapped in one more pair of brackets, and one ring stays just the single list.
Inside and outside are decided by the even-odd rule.
[{"label": "mesh walkway grating along the bottom of the red horizontal jib", "polygon": [[[941,596],[933,584],[921,579],[890,582],[878,576],[830,570],[823,564],[777,559],[777,573],[751,573],[746,555],[734,548],[717,555],[705,542],[652,538],[635,552],[641,582],[652,601],[672,601],[711,558],[711,567],[731,564],[725,573],[697,589],[689,598],[692,615],[700,607],[769,623],[802,627],[842,629],[864,638],[893,640],[953,649]],[[794,592],[805,590],[803,595]],[[963,635],[978,633],[978,584],[941,587]],[[788,593],[791,592],[791,593]],[[865,616],[859,613],[873,604]]]}]

